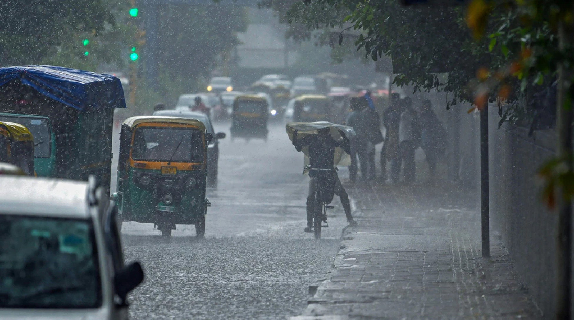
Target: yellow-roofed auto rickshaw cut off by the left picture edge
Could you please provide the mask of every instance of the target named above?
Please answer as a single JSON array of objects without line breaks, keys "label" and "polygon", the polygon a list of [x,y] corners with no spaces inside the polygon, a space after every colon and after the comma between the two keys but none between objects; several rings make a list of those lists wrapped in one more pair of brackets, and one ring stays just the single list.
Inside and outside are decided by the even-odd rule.
[{"label": "yellow-roofed auto rickshaw cut off by the left picture edge", "polygon": [[15,122],[0,122],[0,162],[34,175],[34,138],[28,128]]}]

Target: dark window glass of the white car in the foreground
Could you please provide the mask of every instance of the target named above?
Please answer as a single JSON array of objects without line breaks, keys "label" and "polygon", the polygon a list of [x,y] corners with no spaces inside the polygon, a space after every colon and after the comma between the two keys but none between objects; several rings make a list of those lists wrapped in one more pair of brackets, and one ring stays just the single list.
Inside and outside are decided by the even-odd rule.
[{"label": "dark window glass of the white car in the foreground", "polygon": [[0,215],[0,307],[102,304],[91,221]]}]

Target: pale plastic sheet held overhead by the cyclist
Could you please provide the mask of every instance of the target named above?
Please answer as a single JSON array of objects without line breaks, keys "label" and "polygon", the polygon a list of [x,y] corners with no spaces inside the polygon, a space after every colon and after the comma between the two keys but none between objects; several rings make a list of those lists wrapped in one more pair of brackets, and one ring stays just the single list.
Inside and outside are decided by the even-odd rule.
[{"label": "pale plastic sheet held overhead by the cyclist", "polygon": [[[355,136],[355,130],[350,126],[332,124],[328,121],[316,121],[316,122],[292,122],[285,126],[286,132],[289,136],[289,139],[293,141],[293,133],[297,130],[297,136],[302,138],[308,136],[310,134],[319,134],[317,130],[319,129],[329,129],[329,133],[331,137],[335,139],[335,141],[343,140],[343,134],[347,136],[347,138],[352,138]],[[304,165],[309,164],[309,148],[305,146],[302,149],[302,152],[305,155]],[[333,157],[333,163],[335,166],[343,166],[346,167],[351,164],[351,157],[347,155],[346,152],[343,151],[342,148],[335,148],[335,156]],[[307,169],[304,169],[303,174],[307,173]]]}]

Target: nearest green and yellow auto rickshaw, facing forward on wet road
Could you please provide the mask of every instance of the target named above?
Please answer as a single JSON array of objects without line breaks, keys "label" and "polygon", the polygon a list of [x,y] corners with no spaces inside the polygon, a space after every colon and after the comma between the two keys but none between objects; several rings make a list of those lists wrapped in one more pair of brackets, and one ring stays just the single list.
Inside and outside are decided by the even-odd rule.
[{"label": "nearest green and yellow auto rickshaw, facing forward on wet road", "polygon": [[205,234],[207,145],[211,133],[196,119],[143,116],[121,128],[118,192],[122,221],[154,223],[162,236],[176,224],[195,225]]}]

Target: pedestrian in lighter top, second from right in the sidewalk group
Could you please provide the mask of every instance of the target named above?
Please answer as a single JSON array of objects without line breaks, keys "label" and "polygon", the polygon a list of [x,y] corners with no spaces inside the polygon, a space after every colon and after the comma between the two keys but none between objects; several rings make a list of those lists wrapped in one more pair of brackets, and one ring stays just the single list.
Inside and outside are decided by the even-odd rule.
[{"label": "pedestrian in lighter top, second from right in the sidewalk group", "polygon": [[405,98],[405,109],[401,113],[398,129],[402,180],[405,184],[412,184],[416,178],[414,152],[420,146],[421,134],[419,125],[417,112],[413,109],[413,100]]}]

